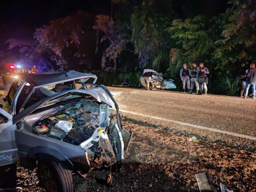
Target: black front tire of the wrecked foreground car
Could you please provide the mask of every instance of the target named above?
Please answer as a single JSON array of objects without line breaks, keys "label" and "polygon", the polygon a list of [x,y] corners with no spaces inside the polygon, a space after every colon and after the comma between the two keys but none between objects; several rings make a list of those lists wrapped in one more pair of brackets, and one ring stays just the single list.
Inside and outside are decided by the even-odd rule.
[{"label": "black front tire of the wrecked foreground car", "polygon": [[37,169],[39,184],[48,192],[72,192],[71,170],[56,160],[40,160]]}]

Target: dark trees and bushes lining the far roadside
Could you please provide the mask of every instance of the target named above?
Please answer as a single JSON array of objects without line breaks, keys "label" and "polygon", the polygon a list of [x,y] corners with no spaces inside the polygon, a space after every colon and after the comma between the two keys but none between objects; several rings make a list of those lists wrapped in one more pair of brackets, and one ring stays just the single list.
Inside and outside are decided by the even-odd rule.
[{"label": "dark trees and bushes lining the far roadside", "polygon": [[8,40],[8,53],[40,71],[97,70],[106,85],[129,78],[137,87],[150,68],[177,90],[182,64],[203,61],[210,93],[238,95],[237,77],[256,61],[255,10],[247,0],[110,0],[110,14],[78,11],[50,21],[35,29],[34,43]]}]

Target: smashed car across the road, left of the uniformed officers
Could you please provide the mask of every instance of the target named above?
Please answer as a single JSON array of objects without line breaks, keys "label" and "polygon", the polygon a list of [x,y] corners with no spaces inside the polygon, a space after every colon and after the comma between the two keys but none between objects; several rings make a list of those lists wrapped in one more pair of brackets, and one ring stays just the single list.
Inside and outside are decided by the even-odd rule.
[{"label": "smashed car across the road, left of the uniformed officers", "polygon": [[[169,80],[164,80],[163,79],[163,74],[162,73],[158,73],[154,70],[144,70],[143,74],[145,74],[146,72],[152,72],[153,75],[152,77],[149,77],[149,82],[150,82],[150,89],[158,89],[158,90],[164,90],[164,89],[175,89],[176,85],[174,83],[174,81],[172,79]],[[142,74],[142,76],[143,76]],[[139,87],[141,88],[141,86],[146,87],[146,83],[143,77],[140,77],[139,79]]]}]

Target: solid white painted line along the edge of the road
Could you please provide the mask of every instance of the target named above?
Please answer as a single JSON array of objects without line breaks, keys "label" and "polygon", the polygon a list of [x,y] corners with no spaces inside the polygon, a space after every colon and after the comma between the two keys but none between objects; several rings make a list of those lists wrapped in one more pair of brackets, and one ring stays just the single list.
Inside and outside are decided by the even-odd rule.
[{"label": "solid white painted line along the edge of the road", "polygon": [[233,132],[229,132],[229,131],[223,131],[223,130],[220,130],[220,129],[203,127],[203,126],[200,126],[200,125],[193,125],[193,124],[189,124],[189,123],[185,123],[185,122],[181,122],[181,121],[174,121],[174,120],[170,120],[170,119],[166,119],[166,118],[162,118],[162,117],[155,117],[155,116],[151,116],[151,115],[145,115],[145,114],[136,113],[136,112],[132,112],[132,111],[126,111],[126,110],[122,110],[122,109],[120,109],[119,111],[121,111],[123,113],[129,113],[129,114],[133,114],[133,115],[138,115],[138,116],[141,116],[141,117],[147,117],[147,118],[153,118],[153,119],[167,121],[167,122],[173,122],[173,123],[179,124],[179,125],[186,125],[186,126],[189,126],[189,127],[194,127],[194,128],[198,128],[198,129],[204,129],[204,130],[207,130],[207,131],[213,131],[213,132],[217,132],[217,133],[222,133],[222,134],[226,134],[226,135],[232,135],[232,136],[236,136],[236,137],[240,137],[240,138],[246,138],[246,139],[251,139],[251,140],[255,140],[256,141],[256,137],[249,136],[249,135],[237,134],[237,133],[233,133]]}]

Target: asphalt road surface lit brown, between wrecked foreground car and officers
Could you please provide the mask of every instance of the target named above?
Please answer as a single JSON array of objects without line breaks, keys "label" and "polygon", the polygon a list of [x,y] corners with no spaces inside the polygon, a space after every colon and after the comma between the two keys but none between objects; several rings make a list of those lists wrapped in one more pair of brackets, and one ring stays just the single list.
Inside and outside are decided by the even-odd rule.
[{"label": "asphalt road surface lit brown, between wrecked foreground car and officers", "polygon": [[255,149],[256,100],[108,87],[127,118]]}]

